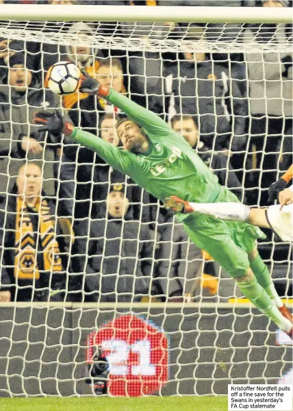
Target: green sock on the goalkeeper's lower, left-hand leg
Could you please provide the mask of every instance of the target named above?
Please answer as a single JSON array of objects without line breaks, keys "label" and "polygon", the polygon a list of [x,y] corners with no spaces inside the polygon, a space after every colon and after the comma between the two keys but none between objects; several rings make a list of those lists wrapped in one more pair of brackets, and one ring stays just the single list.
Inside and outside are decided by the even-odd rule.
[{"label": "green sock on the goalkeeper's lower, left-hand leg", "polygon": [[272,303],[266,290],[264,290],[264,288],[257,282],[255,276],[248,282],[238,282],[238,286],[243,294],[251,300],[259,311],[264,312],[270,320],[285,332],[290,331],[292,324],[288,319],[285,319],[277,307]]}]

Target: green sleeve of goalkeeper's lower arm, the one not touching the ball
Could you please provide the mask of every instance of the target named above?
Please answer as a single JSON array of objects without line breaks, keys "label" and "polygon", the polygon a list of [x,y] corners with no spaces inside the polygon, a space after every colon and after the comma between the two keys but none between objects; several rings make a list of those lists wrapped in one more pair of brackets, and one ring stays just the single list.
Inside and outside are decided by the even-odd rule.
[{"label": "green sleeve of goalkeeper's lower arm, the one not touching the ball", "polygon": [[133,160],[135,160],[136,157],[133,153],[118,149],[110,144],[110,142],[94,136],[94,134],[77,129],[76,127],[73,130],[73,134],[71,134],[71,138],[73,138],[75,142],[97,151],[99,156],[114,169],[125,174],[131,173]]}]

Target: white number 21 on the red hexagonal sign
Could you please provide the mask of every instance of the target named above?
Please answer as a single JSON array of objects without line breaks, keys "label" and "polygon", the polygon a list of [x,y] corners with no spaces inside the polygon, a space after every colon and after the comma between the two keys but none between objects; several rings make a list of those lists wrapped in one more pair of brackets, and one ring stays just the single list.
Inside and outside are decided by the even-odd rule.
[{"label": "white number 21 on the red hexagonal sign", "polygon": [[130,351],[140,356],[139,364],[131,366],[132,375],[155,375],[156,373],[155,365],[151,364],[151,344],[148,340],[138,340],[131,345],[123,340],[104,340],[102,349],[110,351],[107,361],[110,373],[113,375],[129,374],[127,358]]}]

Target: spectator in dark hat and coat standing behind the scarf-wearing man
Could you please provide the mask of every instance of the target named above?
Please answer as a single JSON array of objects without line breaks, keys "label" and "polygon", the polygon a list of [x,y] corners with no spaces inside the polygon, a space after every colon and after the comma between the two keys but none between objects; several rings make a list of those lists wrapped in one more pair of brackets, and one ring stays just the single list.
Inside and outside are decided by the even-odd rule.
[{"label": "spectator in dark hat and coat standing behind the scarf-wearing man", "polygon": [[1,195],[12,188],[13,180],[8,181],[8,175],[15,177],[25,158],[45,160],[44,189],[47,195],[55,195],[54,160],[60,145],[53,136],[36,133],[32,117],[38,108],[58,107],[58,98],[41,87],[31,70],[29,55],[15,53],[10,56],[9,66],[8,78],[0,85]]}]

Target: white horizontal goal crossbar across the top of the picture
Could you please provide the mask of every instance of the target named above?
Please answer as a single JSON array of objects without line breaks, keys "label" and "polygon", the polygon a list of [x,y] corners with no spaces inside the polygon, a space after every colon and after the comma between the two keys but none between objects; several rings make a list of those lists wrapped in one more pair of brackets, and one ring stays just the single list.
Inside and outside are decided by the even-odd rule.
[{"label": "white horizontal goal crossbar across the top of the picture", "polygon": [[198,23],[291,23],[292,10],[284,8],[234,8],[137,5],[1,5],[3,20],[31,21],[177,21]]}]

